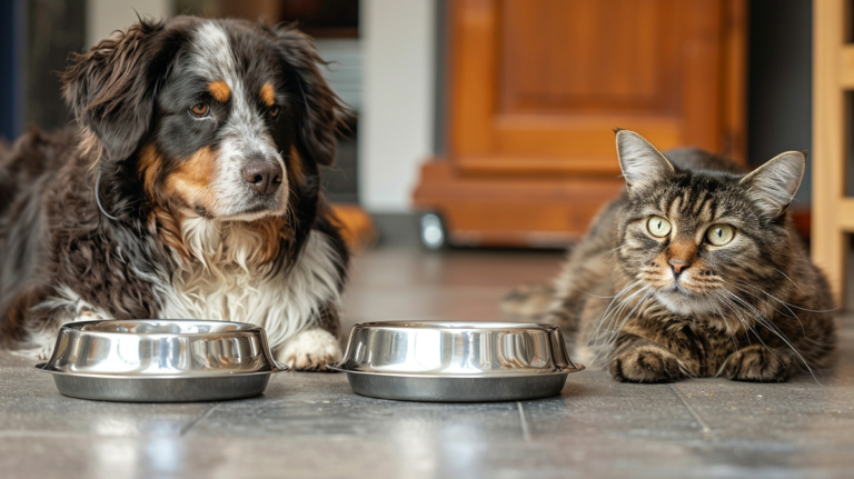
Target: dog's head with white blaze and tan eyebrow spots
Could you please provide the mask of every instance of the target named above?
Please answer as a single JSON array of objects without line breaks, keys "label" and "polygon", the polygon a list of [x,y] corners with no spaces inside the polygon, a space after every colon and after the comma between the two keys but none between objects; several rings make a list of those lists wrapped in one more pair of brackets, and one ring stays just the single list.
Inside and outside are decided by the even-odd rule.
[{"label": "dog's head with white blaze and tan eyebrow spots", "polygon": [[[314,208],[317,166],[332,162],[346,114],[318,63],[288,26],[191,17],[141,20],[77,56],[64,94],[99,158],[105,207],[178,222]],[[145,201],[118,193],[128,178]]]}]

